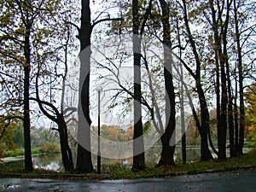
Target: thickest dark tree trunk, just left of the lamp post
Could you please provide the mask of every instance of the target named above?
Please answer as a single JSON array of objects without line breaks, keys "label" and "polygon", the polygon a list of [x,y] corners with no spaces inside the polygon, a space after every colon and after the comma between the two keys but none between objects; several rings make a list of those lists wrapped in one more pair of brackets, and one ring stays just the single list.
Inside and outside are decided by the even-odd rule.
[{"label": "thickest dark tree trunk, just left of the lamp post", "polygon": [[[76,170],[92,172],[90,153],[90,0],[82,0],[80,41],[80,77],[79,77],[79,146]],[[84,77],[85,76],[85,77]]]}]

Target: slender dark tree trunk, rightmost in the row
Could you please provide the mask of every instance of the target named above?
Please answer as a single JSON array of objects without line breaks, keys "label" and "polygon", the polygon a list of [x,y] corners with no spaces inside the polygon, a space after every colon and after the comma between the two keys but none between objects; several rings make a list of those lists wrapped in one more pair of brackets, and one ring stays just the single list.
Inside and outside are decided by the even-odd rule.
[{"label": "slender dark tree trunk, rightmost in the row", "polygon": [[243,98],[243,68],[242,68],[242,55],[241,55],[241,44],[240,44],[240,32],[239,32],[239,24],[238,24],[238,16],[237,16],[237,7],[236,0],[234,0],[234,16],[235,16],[235,26],[236,26],[236,47],[237,47],[237,55],[238,55],[238,82],[239,82],[239,101],[240,101],[240,118],[239,118],[239,143],[237,152],[238,154],[243,154],[242,148],[244,144],[244,127],[245,127],[245,107],[244,107],[244,98]]}]

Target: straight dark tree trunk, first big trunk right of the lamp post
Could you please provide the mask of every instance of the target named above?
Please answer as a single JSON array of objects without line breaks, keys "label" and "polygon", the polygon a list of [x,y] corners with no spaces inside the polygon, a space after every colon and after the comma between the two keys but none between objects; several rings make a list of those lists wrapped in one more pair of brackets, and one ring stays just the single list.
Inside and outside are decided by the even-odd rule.
[{"label": "straight dark tree trunk, first big trunk right of the lamp post", "polygon": [[133,33],[133,65],[134,65],[134,132],[133,132],[133,165],[134,170],[145,168],[142,90],[141,90],[141,37],[139,37],[138,1],[132,0],[132,33]]}]

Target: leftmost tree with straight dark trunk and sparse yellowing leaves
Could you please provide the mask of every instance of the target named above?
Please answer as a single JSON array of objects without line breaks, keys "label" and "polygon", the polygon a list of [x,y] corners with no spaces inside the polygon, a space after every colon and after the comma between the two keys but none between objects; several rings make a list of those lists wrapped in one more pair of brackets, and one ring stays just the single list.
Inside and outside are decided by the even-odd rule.
[{"label": "leftmost tree with straight dark trunk and sparse yellowing leaves", "polygon": [[[44,1],[44,3],[38,3],[38,1],[26,0],[15,2],[8,1],[7,4],[4,5],[7,6],[7,9],[4,9],[6,13],[3,15],[4,20],[2,20],[1,43],[4,44],[3,46],[5,46],[6,49],[1,51],[1,55],[5,58],[3,64],[6,64],[6,67],[13,68],[12,72],[9,72],[8,68],[5,69],[5,79],[7,79],[7,77],[12,78],[11,82],[15,82],[14,88],[18,88],[17,92],[23,91],[23,96],[20,96],[18,93],[15,95],[14,100],[16,103],[23,100],[22,104],[24,105],[24,117],[22,117],[22,119],[24,119],[25,168],[28,171],[32,170],[30,138],[30,115],[32,108],[30,107],[29,100],[33,97],[35,87],[38,89],[37,83],[36,86],[32,84],[33,78],[37,76],[34,68],[42,69],[42,66],[47,66],[48,64],[52,67],[50,61],[58,62],[59,58],[55,55],[55,50],[59,48],[52,46],[50,41],[54,39],[55,42],[57,42],[55,38],[55,32],[57,30],[55,30],[52,22],[56,20],[56,12],[54,10],[58,9],[59,4],[60,2],[58,1]],[[59,73],[59,68],[56,66],[55,72]],[[51,73],[45,70],[40,74],[42,74],[41,77],[44,79],[44,86],[48,89],[49,86],[52,85],[51,80],[49,80],[50,83],[48,83],[50,76],[48,74]],[[57,74],[57,76],[58,75],[59,74]],[[16,85],[18,84],[16,81],[19,82],[19,85]],[[21,83],[23,86],[20,85]],[[50,94],[45,95],[45,100],[46,98],[49,100],[52,99],[52,89],[49,90]],[[37,101],[37,99],[34,100]],[[11,108],[11,110],[15,111],[15,108]]]}]

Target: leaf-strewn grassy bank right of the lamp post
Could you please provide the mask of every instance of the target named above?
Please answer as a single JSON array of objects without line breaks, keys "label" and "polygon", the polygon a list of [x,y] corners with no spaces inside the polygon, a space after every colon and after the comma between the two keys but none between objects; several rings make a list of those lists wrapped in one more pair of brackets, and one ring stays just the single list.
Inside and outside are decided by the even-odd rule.
[{"label": "leaf-strewn grassy bank right of the lamp post", "polygon": [[189,164],[177,164],[175,166],[148,165],[146,170],[132,172],[125,166],[113,165],[103,166],[103,173],[108,173],[111,178],[144,178],[144,177],[171,177],[178,174],[194,174],[201,172],[230,171],[236,167],[256,166],[256,149],[242,156],[229,158],[227,160],[198,161]]}]

